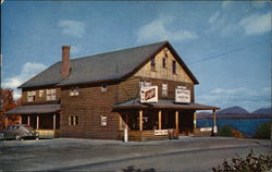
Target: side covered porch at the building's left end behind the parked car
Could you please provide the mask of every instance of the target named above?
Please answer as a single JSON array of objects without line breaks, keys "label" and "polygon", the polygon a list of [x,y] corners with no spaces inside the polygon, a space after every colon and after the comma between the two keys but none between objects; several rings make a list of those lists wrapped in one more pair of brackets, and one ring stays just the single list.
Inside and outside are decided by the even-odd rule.
[{"label": "side covered porch at the building's left end behind the parked car", "polygon": [[18,114],[20,124],[27,124],[39,133],[39,138],[59,137],[60,131],[60,105],[38,105],[21,106],[8,112],[9,114]]}]

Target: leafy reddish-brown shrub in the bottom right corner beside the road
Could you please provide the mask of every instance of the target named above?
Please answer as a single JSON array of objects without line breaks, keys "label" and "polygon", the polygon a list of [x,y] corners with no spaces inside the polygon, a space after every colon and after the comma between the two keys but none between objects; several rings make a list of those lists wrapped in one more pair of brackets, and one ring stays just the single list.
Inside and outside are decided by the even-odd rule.
[{"label": "leafy reddish-brown shrub in the bottom right corner beside the road", "polygon": [[272,157],[260,155],[255,156],[252,149],[245,159],[238,155],[232,158],[232,162],[223,161],[222,167],[212,168],[213,172],[264,172],[272,170]]}]

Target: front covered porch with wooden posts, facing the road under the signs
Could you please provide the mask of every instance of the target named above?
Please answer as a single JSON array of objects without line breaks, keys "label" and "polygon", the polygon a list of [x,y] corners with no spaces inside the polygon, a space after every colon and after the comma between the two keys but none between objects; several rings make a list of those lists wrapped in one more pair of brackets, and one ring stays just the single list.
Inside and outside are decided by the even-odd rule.
[{"label": "front covered porch with wooden posts, facing the road under the signs", "polygon": [[[217,133],[217,107],[199,103],[175,103],[159,100],[156,103],[140,103],[137,100],[114,106],[120,113],[120,135],[128,131],[128,140],[177,138],[178,135],[211,136]],[[197,110],[212,110],[213,127],[197,128]]]}]

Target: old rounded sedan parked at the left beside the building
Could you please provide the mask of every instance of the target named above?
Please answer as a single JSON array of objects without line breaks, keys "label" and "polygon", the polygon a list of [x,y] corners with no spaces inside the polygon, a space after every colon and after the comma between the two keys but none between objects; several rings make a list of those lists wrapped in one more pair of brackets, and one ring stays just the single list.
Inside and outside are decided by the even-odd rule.
[{"label": "old rounded sedan parked at the left beside the building", "polygon": [[13,124],[7,127],[4,131],[0,131],[0,139],[25,139],[25,138],[38,138],[39,133],[32,126],[25,124]]}]

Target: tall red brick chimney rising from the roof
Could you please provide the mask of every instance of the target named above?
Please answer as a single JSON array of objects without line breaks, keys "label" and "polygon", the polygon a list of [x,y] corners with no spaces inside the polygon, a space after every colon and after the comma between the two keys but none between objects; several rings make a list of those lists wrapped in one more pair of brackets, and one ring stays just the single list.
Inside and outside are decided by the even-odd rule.
[{"label": "tall red brick chimney rising from the roof", "polygon": [[70,75],[70,46],[62,46],[61,78]]}]

